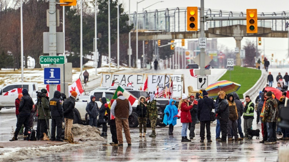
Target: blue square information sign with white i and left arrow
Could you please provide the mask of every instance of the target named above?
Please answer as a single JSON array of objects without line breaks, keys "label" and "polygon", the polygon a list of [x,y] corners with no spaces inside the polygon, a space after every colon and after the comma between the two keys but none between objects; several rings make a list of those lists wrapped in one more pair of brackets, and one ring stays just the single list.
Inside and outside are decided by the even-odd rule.
[{"label": "blue square information sign with white i and left arrow", "polygon": [[59,67],[44,67],[44,84],[60,84]]}]

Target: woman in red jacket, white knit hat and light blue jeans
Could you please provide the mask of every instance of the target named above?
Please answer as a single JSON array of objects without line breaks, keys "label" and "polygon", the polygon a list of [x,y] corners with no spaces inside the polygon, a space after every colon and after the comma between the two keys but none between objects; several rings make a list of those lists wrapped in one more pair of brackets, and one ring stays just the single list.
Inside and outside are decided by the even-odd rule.
[{"label": "woman in red jacket, white knit hat and light blue jeans", "polygon": [[191,142],[187,137],[187,130],[189,123],[192,122],[190,109],[193,108],[193,104],[189,106],[188,97],[183,93],[182,99],[179,102],[179,110],[181,111],[181,123],[182,126],[182,141],[181,142]]}]

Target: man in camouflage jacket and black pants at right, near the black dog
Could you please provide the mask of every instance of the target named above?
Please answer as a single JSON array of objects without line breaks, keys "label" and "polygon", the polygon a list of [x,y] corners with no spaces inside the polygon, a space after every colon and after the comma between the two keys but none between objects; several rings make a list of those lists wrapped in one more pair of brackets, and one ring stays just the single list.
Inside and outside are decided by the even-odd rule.
[{"label": "man in camouflage jacket and black pants at right, near the black dog", "polygon": [[278,103],[272,97],[272,92],[268,91],[265,103],[263,122],[266,122],[268,140],[265,143],[276,142],[276,122],[278,117]]}]

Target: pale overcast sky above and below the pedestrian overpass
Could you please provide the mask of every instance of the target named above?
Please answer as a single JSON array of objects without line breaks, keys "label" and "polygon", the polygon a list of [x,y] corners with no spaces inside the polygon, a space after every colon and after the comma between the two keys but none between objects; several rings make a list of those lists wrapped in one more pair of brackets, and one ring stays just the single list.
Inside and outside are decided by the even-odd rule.
[{"label": "pale overcast sky above and below the pedestrian overpass", "polygon": [[[137,2],[141,0],[131,0],[131,12],[136,11]],[[165,8],[176,8],[176,7],[188,7],[188,6],[197,6],[200,7],[200,0],[160,0],[164,1],[161,3],[157,3],[147,10],[155,10],[155,9],[165,9]],[[129,0],[120,0],[121,3],[124,4],[125,12],[128,12],[129,9]],[[158,2],[158,0],[145,0],[138,4],[139,11],[142,8],[148,7],[149,5]],[[216,10],[225,10],[225,11],[233,11],[233,12],[246,12],[246,9],[257,9],[258,12],[289,12],[289,0],[205,0],[204,7],[206,9],[216,9]],[[277,24],[278,25],[278,24]],[[244,37],[241,46],[245,44],[245,41],[254,40],[256,38]],[[228,46],[230,49],[234,49],[236,44],[234,38],[218,38],[218,46],[220,44],[224,44]],[[288,54],[288,38],[262,38],[262,46],[258,46],[258,48],[264,49],[265,44],[265,55],[270,55],[274,53],[274,57],[278,57],[283,59]],[[274,58],[274,59],[275,59]],[[287,61],[286,61],[287,63]]]}]

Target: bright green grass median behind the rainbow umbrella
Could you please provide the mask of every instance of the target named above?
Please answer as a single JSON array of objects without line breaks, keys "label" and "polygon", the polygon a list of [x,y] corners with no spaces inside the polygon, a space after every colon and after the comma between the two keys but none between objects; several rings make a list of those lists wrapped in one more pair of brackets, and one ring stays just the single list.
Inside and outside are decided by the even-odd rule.
[{"label": "bright green grass median behind the rainbow umbrella", "polygon": [[[230,79],[231,73],[231,79]],[[237,91],[237,94],[240,98],[243,98],[243,93],[248,91],[260,78],[261,71],[257,69],[234,66],[233,71],[227,71],[220,79],[232,81],[238,84],[241,84],[240,89]]]}]

